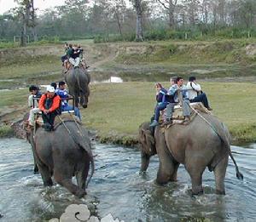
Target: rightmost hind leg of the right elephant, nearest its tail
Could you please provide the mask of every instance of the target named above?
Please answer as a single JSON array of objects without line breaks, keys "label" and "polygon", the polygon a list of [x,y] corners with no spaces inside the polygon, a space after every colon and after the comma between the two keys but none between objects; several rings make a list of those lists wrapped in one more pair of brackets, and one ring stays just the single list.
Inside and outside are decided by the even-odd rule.
[{"label": "rightmost hind leg of the right elephant, nearest its tail", "polygon": [[229,157],[224,157],[218,165],[214,168],[216,193],[225,195],[224,178],[226,174],[226,168],[228,166]]}]

